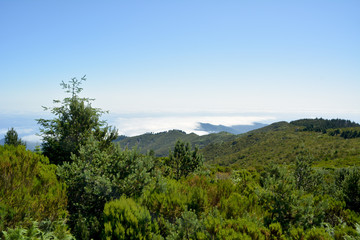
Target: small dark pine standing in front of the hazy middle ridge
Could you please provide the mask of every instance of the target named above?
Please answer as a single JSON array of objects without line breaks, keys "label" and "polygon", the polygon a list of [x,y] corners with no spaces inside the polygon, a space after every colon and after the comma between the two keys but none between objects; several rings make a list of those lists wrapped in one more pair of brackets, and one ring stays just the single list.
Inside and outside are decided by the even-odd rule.
[{"label": "small dark pine standing in front of the hazy middle ridge", "polygon": [[197,147],[192,151],[189,142],[184,143],[178,140],[174,151],[170,151],[169,159],[165,164],[172,168],[174,178],[179,180],[201,167],[203,159]]}]

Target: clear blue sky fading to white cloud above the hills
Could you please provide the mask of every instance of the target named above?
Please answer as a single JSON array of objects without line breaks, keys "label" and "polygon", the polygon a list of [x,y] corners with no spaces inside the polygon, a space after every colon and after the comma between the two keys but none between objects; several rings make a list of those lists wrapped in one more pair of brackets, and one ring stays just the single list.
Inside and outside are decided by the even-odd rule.
[{"label": "clear blue sky fading to white cloud above the hills", "polygon": [[[0,0],[0,135],[83,96],[120,134],[360,122],[360,1]],[[1,137],[0,137],[1,138]]]}]

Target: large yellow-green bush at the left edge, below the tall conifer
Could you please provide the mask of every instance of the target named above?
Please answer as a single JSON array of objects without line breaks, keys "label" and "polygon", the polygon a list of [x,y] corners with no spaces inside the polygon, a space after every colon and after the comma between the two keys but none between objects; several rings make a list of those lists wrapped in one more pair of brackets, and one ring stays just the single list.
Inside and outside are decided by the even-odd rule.
[{"label": "large yellow-green bush at the left edge, below the tall conifer", "polygon": [[0,146],[0,231],[27,227],[30,219],[66,216],[65,185],[55,170],[46,157],[24,146]]}]

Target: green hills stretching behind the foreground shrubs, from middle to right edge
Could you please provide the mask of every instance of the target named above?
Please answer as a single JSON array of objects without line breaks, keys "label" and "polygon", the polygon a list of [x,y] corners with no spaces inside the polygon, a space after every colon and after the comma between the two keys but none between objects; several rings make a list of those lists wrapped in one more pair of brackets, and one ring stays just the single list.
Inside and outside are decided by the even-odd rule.
[{"label": "green hills stretching behind the foreground shrubs, from middle to right edge", "polygon": [[273,123],[240,135],[221,132],[199,136],[171,130],[136,137],[120,136],[116,142],[122,148],[137,147],[142,153],[153,150],[156,156],[164,157],[180,139],[193,147],[198,145],[205,161],[220,165],[249,167],[292,162],[306,151],[328,164],[351,164],[360,160],[359,126],[342,119],[300,119]]}]

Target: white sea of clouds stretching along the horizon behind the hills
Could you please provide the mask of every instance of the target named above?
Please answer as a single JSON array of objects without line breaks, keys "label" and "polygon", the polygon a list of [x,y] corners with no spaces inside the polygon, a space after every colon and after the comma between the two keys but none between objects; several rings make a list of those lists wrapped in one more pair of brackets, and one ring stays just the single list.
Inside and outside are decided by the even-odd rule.
[{"label": "white sea of clouds stretching along the horizon behind the hills", "polygon": [[[52,119],[53,116],[42,116]],[[291,121],[300,118],[344,118],[357,120],[358,115],[349,114],[274,114],[274,113],[247,113],[247,114],[194,114],[194,113],[135,113],[135,114],[105,114],[103,119],[108,124],[117,128],[119,135],[137,136],[144,133],[158,133],[172,129],[182,130],[186,133],[205,135],[208,132],[199,131],[200,123],[213,125],[234,126],[252,125],[255,122],[270,124],[276,121]],[[27,142],[41,143],[39,136],[39,125],[35,120],[36,115],[0,115],[0,140],[5,137],[6,132],[11,128],[19,134],[22,140]],[[359,122],[359,121],[358,121]]]}]

